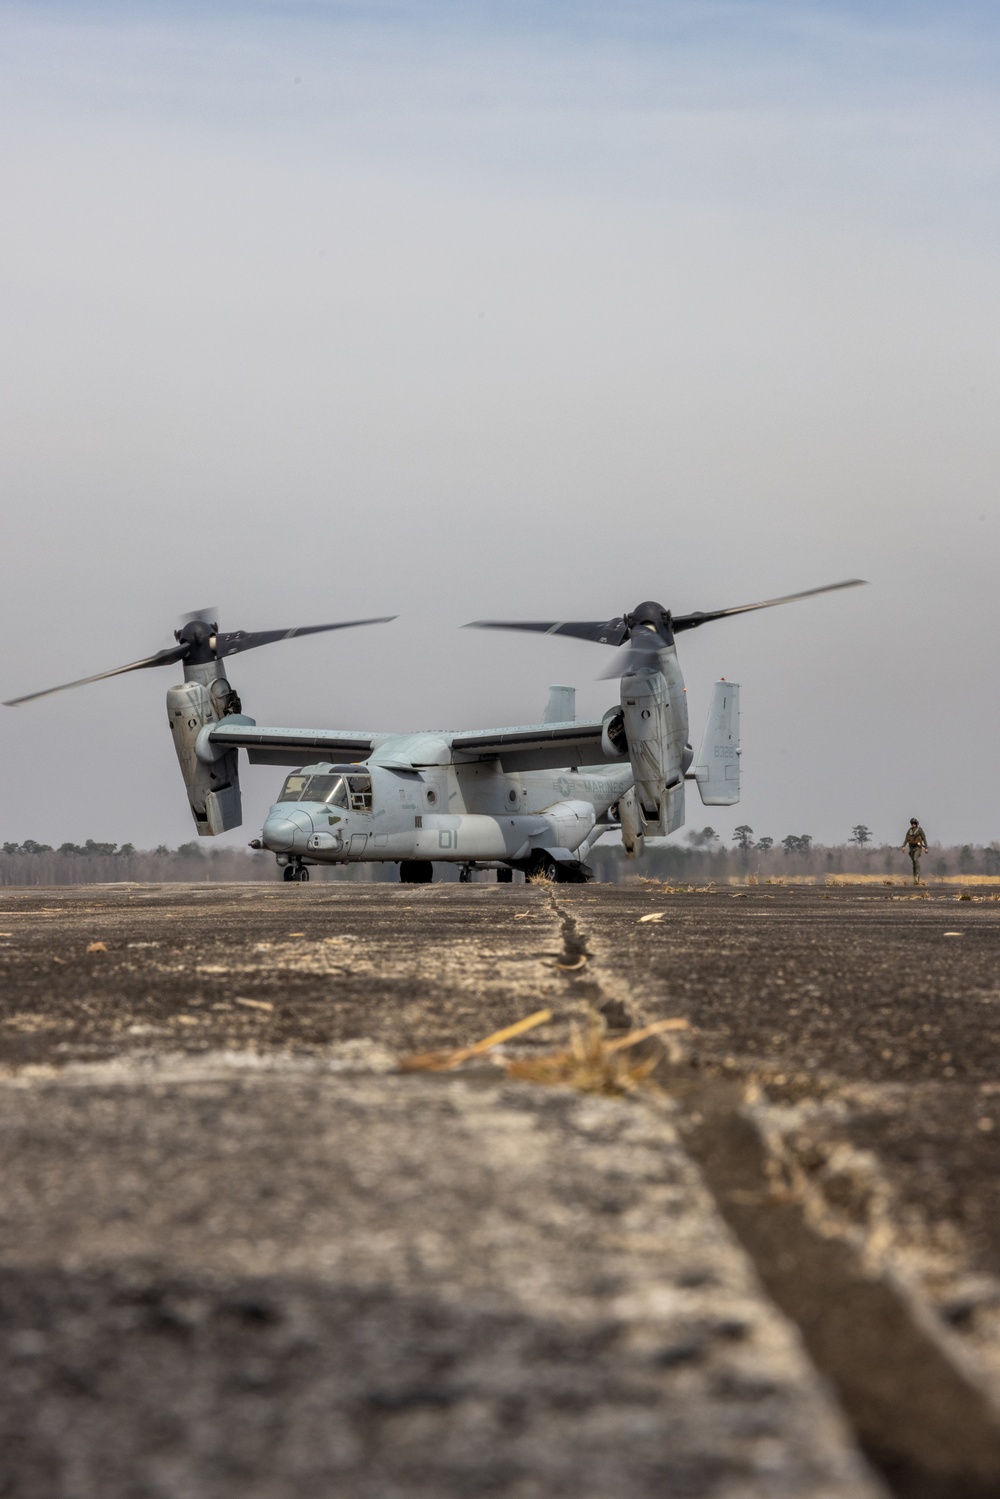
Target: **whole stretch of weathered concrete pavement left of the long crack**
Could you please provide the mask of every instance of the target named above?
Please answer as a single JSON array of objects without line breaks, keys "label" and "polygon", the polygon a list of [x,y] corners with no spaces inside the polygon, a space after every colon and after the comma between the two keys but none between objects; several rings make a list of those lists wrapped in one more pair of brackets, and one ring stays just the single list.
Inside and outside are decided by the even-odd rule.
[{"label": "whole stretch of weathered concrete pavement left of the long crack", "polygon": [[667,1099],[391,1072],[540,1006],[522,1055],[625,1030],[582,914],[4,892],[4,1492],[882,1493]]}]

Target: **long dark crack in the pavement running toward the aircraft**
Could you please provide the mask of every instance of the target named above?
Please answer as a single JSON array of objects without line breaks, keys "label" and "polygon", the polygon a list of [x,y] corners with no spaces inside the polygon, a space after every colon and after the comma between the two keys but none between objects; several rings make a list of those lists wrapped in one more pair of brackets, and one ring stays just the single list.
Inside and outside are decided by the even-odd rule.
[{"label": "long dark crack in the pavement running toward the aircraft", "polygon": [[[589,953],[591,982],[607,1003],[592,950],[600,943],[553,905],[574,950]],[[972,1360],[891,1264],[873,1264],[864,1243],[810,1211],[766,1129],[760,1079],[699,1076],[684,1042],[673,1046],[658,1078],[678,1103],[681,1138],[765,1289],[834,1385],[865,1456],[900,1499],[994,1499],[1000,1414]]]}]

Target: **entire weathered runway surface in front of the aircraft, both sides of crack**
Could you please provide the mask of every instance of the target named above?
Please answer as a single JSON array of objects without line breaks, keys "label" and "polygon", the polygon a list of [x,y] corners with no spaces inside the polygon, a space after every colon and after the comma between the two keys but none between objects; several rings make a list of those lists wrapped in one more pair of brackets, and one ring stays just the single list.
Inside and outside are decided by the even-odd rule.
[{"label": "entire weathered runway surface in front of the aircraft, both sides of crack", "polygon": [[1000,1493],[969,893],[3,890],[0,1495]]}]

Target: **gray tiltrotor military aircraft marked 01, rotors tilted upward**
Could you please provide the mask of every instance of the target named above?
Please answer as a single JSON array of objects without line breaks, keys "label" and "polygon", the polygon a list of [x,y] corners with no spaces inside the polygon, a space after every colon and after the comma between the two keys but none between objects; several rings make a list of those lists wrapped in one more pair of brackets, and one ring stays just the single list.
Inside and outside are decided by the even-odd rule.
[{"label": "gray tiltrotor military aircraft marked 01, rotors tilted upward", "polygon": [[64,687],[183,663],[184,682],[169,688],[166,711],[195,826],[202,836],[240,826],[240,750],[252,764],[294,767],[250,844],[274,853],[286,880],[307,880],[310,865],[394,862],[402,881],[423,884],[432,880],[435,862],[447,862],[460,865],[466,880],[474,868],[495,868],[498,880],[511,880],[513,871],[522,869],[579,881],[591,875],[586,854],[612,829],[621,829],[631,857],[642,853],[648,836],[676,832],[684,824],[685,781],[697,784],[706,806],[739,800],[739,687],[715,684],[696,758],[675,636],[714,619],[861,583],[864,579],[849,579],[694,615],[673,616],[661,604],[645,603],[607,621],[478,619],[469,627],[621,648],[604,673],[621,678],[619,702],[600,720],[576,718],[570,687],[550,690],[540,724],[508,729],[271,729],[243,714],[225,675],[229,655],[292,636],[384,624],[385,618],[220,634],[202,610],[177,631],[175,646]]}]

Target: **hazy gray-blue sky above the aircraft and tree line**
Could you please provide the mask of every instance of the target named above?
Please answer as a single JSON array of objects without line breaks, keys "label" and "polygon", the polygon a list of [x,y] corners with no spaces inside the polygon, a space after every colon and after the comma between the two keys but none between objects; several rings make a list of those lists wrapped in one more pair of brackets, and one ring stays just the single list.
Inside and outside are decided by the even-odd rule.
[{"label": "hazy gray-blue sky above the aircraft and tree line", "polygon": [[[1000,22],[955,3],[0,6],[0,696],[223,630],[259,723],[486,727],[480,616],[681,639],[748,821],[1000,838]],[[175,669],[0,709],[0,841],[193,833]],[[246,770],[244,842],[280,770]]]}]

